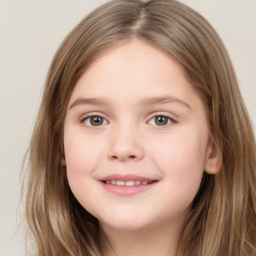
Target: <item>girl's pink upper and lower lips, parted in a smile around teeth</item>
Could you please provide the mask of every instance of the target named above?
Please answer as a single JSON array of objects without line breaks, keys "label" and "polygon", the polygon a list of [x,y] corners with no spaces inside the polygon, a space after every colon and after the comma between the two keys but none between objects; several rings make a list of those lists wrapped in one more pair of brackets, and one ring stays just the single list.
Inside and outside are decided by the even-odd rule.
[{"label": "girl's pink upper and lower lips, parted in a smile around teeth", "polygon": [[[106,184],[103,182],[105,180],[112,180],[112,179],[123,180],[123,181],[145,180],[145,181],[153,181],[153,182],[146,185],[140,184],[140,185],[134,185],[134,186],[113,185],[113,184]],[[129,195],[135,195],[137,193],[150,189],[157,183],[158,180],[154,180],[151,178],[146,178],[138,175],[133,175],[133,174],[113,174],[113,175],[102,177],[99,179],[99,181],[105,190],[111,193],[114,193],[116,195],[129,196]]]}]

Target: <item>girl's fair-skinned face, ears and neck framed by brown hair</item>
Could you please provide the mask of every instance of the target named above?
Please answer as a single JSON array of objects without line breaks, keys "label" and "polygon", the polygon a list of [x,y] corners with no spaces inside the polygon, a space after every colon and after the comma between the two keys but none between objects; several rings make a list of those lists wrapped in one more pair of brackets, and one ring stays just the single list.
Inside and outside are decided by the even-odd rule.
[{"label": "girl's fair-skinned face, ears and neck framed by brown hair", "polygon": [[175,254],[203,171],[218,170],[207,123],[178,63],[145,42],[106,50],[81,75],[62,164],[104,256]]}]

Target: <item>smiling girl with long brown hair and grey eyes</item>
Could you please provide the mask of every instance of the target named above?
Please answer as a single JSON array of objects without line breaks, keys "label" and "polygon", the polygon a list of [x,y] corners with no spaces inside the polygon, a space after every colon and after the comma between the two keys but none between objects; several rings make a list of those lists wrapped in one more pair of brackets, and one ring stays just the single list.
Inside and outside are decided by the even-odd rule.
[{"label": "smiling girl with long brown hair and grey eyes", "polygon": [[175,0],[113,0],[64,39],[30,142],[37,255],[255,255],[255,139],[228,54]]}]

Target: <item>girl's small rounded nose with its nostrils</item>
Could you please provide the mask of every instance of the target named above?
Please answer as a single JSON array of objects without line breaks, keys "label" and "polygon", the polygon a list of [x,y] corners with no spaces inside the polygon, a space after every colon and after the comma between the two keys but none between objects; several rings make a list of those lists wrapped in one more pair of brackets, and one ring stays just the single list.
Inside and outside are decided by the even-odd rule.
[{"label": "girl's small rounded nose with its nostrils", "polygon": [[138,161],[144,156],[143,143],[137,130],[128,127],[116,127],[107,152],[110,160]]}]

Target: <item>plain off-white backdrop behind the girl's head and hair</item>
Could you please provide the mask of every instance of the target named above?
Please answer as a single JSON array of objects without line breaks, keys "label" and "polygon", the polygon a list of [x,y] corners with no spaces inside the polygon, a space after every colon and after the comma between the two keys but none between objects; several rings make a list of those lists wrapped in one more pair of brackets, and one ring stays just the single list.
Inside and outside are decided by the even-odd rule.
[{"label": "plain off-white backdrop behind the girl's head and hair", "polygon": [[[19,175],[47,68],[67,32],[105,1],[0,0],[0,256],[24,255]],[[256,124],[256,0],[182,2],[224,41]]]}]

